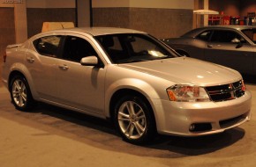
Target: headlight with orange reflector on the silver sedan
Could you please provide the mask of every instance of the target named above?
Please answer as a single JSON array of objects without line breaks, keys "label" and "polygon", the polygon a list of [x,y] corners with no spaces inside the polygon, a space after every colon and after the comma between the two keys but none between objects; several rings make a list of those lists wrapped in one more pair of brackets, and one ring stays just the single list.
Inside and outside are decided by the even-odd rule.
[{"label": "headlight with orange reflector on the silver sedan", "polygon": [[167,90],[170,101],[202,102],[210,101],[207,91],[200,86],[174,85]]}]

